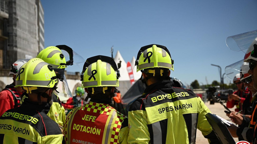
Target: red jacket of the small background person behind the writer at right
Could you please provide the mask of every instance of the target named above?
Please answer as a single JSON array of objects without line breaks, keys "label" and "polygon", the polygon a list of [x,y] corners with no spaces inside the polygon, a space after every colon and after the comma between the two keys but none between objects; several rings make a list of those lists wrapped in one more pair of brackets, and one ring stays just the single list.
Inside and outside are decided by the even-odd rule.
[{"label": "red jacket of the small background person behind the writer at right", "polygon": [[245,100],[245,98],[247,96],[252,96],[252,92],[248,90],[248,88],[246,88],[246,90],[244,90],[243,92],[241,92],[240,90],[237,90],[235,92],[233,92],[233,94],[236,94],[238,96],[241,97],[241,101],[237,101],[237,100],[231,100],[231,101],[227,101],[227,107],[228,108],[233,108],[236,105],[236,112],[239,112],[240,110],[242,110],[242,104]]}]

